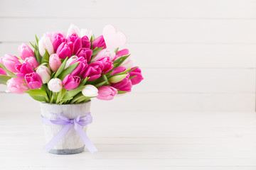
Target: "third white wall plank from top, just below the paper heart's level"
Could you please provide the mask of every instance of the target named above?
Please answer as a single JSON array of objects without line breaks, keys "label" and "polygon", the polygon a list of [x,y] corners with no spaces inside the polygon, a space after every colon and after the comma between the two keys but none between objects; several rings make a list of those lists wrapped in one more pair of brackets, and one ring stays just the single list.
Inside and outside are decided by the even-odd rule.
[{"label": "third white wall plank from top, just below the paper heart's level", "polygon": [[[18,45],[21,43],[0,43],[0,56],[18,55]],[[140,67],[256,67],[256,45],[129,43],[125,47],[130,50]]]}]

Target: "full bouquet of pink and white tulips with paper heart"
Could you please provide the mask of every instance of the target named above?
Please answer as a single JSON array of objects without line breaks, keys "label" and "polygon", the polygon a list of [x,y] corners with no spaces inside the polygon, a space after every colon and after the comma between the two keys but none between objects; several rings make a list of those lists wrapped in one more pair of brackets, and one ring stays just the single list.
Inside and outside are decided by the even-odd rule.
[{"label": "full bouquet of pink and white tulips with paper heart", "polygon": [[33,50],[23,43],[19,56],[0,58],[0,83],[11,93],[46,103],[112,100],[143,79],[129,50],[119,50],[126,40],[110,25],[97,38],[73,25],[67,33],[45,33],[31,43]]}]

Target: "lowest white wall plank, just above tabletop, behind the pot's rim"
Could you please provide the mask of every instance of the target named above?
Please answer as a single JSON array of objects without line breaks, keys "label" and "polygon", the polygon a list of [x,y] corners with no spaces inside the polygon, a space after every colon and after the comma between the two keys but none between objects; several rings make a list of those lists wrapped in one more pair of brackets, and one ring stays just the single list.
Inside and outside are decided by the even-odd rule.
[{"label": "lowest white wall plank, just above tabletop, behind the pot's rim", "polygon": [[[0,98],[3,103],[0,113],[19,108],[38,112],[39,103],[28,95],[0,94]],[[92,111],[122,111],[124,108],[125,111],[255,111],[255,94],[132,93],[113,101],[92,100]]]}]

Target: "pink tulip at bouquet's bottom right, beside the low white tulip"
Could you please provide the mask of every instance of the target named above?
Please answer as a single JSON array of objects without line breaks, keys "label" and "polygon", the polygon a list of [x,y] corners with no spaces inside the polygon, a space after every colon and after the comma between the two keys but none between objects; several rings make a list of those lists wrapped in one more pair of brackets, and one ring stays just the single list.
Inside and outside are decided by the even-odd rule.
[{"label": "pink tulip at bouquet's bottom right, beside the low white tulip", "polygon": [[117,89],[112,86],[100,86],[98,88],[97,98],[104,101],[110,101],[117,94]]}]

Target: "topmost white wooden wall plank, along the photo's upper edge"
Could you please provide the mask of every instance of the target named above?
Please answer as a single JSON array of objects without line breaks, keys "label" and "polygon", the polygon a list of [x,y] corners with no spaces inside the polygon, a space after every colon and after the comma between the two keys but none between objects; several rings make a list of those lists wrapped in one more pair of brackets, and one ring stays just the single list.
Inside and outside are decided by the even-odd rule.
[{"label": "topmost white wooden wall plank, along the photo's upper edge", "polygon": [[[50,4],[50,5],[49,5]],[[250,0],[161,1],[1,1],[1,17],[58,18],[256,18],[256,2]],[[97,10],[95,10],[97,9]],[[47,11],[47,12],[46,12]],[[72,11],[72,12],[67,12]]]}]

